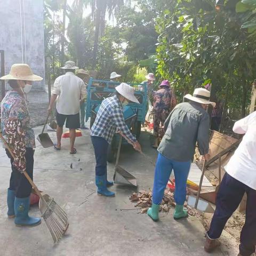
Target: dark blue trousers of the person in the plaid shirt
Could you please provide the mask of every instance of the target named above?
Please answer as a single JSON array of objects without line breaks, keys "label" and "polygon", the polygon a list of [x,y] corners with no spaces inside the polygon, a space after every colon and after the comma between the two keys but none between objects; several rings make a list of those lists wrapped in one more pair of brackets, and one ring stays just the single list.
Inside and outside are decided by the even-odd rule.
[{"label": "dark blue trousers of the person in the plaid shirt", "polygon": [[102,176],[107,174],[108,142],[102,137],[91,136],[96,159],[95,174]]}]

